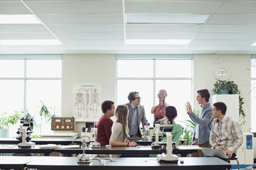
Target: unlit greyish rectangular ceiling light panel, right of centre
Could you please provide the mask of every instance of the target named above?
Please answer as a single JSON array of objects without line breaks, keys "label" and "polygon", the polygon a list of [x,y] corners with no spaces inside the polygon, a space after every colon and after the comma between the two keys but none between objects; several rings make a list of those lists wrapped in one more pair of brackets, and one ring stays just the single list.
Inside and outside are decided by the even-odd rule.
[{"label": "unlit greyish rectangular ceiling light panel, right of centre", "polygon": [[127,13],[127,24],[204,24],[210,17],[206,14],[189,13]]}]

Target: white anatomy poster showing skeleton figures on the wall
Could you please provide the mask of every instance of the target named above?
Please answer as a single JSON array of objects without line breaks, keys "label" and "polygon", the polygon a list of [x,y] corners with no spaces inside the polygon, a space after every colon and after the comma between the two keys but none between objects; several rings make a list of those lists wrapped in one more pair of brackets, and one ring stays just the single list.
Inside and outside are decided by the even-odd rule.
[{"label": "white anatomy poster showing skeleton figures on the wall", "polygon": [[73,85],[73,116],[76,121],[98,121],[102,115],[101,84],[97,82]]}]

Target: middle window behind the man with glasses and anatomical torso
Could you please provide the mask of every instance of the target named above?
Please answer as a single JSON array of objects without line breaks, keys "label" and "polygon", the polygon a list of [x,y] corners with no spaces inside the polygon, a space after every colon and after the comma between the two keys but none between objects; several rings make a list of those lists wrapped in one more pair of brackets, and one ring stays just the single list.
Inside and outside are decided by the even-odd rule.
[{"label": "middle window behind the man with glasses and anatomical torso", "polygon": [[138,91],[141,105],[144,105],[147,120],[153,125],[151,114],[153,105],[159,103],[159,89],[166,89],[166,102],[176,107],[176,122],[188,120],[184,105],[192,101],[192,63],[193,56],[130,56],[118,55],[116,58],[116,105],[129,102],[128,94]]}]

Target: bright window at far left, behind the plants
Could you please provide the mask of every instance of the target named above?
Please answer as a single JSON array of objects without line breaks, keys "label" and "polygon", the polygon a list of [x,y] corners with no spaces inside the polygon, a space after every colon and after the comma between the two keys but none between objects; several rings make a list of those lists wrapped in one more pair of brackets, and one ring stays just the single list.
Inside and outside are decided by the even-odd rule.
[{"label": "bright window at far left, behind the plants", "polygon": [[1,112],[35,115],[44,102],[60,114],[61,56],[0,56],[0,94]]}]

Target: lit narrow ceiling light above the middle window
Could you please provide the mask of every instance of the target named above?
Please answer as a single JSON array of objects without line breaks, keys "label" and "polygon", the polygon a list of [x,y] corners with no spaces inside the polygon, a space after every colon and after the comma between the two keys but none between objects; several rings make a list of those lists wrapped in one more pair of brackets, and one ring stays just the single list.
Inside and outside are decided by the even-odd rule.
[{"label": "lit narrow ceiling light above the middle window", "polygon": [[188,45],[190,40],[127,39],[127,45]]}]

